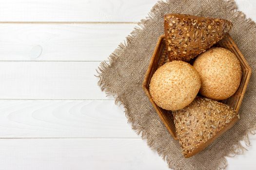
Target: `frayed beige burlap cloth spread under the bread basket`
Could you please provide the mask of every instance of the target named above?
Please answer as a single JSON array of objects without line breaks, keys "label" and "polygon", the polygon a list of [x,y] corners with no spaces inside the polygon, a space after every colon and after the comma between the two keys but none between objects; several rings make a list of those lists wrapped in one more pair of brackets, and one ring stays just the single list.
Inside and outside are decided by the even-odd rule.
[{"label": "frayed beige burlap cloth spread under the bread basket", "polygon": [[[127,42],[120,44],[110,55],[109,63],[103,62],[98,68],[98,85],[124,105],[132,128],[147,140],[149,147],[157,151],[172,169],[225,169],[227,162],[224,156],[242,153],[239,140],[245,140],[249,145],[248,134],[254,133],[256,129],[256,23],[245,19],[244,14],[236,9],[233,0],[160,1],[152,8],[149,17],[141,20],[138,28],[127,37]],[[163,16],[167,13],[232,21],[234,26],[231,36],[253,70],[240,109],[241,119],[207,149],[188,159],[182,156],[178,141],[168,133],[141,87],[158,37],[163,34]]]}]

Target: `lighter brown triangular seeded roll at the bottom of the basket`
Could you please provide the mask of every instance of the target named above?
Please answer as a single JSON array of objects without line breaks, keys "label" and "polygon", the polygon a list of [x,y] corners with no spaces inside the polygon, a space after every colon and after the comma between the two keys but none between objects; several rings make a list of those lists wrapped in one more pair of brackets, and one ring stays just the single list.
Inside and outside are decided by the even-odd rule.
[{"label": "lighter brown triangular seeded roll at the bottom of the basket", "polygon": [[174,112],[175,127],[184,157],[197,154],[230,129],[239,115],[228,105],[197,97]]}]

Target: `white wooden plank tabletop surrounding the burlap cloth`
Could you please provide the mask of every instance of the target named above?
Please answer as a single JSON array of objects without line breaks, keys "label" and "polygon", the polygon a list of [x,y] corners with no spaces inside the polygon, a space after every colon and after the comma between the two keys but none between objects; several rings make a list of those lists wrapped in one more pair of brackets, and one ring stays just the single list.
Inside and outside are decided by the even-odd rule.
[{"label": "white wooden plank tabletop surrounding the burlap cloth", "polygon": [[[94,77],[156,2],[1,0],[0,170],[168,170]],[[229,170],[255,170],[251,144]]]}]

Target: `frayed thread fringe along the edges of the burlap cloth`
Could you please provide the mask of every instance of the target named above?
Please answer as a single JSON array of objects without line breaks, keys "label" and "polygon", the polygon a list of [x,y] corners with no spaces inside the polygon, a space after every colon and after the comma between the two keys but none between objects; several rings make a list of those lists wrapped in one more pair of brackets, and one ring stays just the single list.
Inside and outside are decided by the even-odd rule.
[{"label": "frayed thread fringe along the edges of the burlap cloth", "polygon": [[[171,0],[167,1],[158,1],[157,4],[151,9],[150,13],[148,14],[148,17],[145,19],[142,19],[139,23],[138,26],[134,28],[134,31],[126,37],[126,41],[123,43],[120,43],[118,45],[118,48],[109,56],[108,61],[103,61],[100,66],[97,69],[97,77],[99,78],[98,85],[100,86],[102,91],[105,91],[107,95],[113,95],[115,97],[115,103],[116,104],[122,104],[125,108],[125,116],[128,119],[128,122],[131,123],[132,129],[134,129],[138,135],[141,135],[142,139],[145,139],[147,141],[147,144],[149,147],[157,151],[157,153],[167,162],[169,168],[175,169],[175,170],[181,170],[179,167],[176,166],[175,162],[171,160],[170,157],[167,156],[167,152],[164,148],[160,148],[158,144],[154,141],[154,139],[149,136],[149,134],[146,132],[146,130],[143,129],[141,125],[139,125],[138,121],[130,117],[130,111],[129,108],[126,106],[126,103],[122,100],[122,96],[118,96],[115,89],[106,84],[105,77],[102,73],[107,68],[112,67],[118,61],[118,58],[120,55],[122,55],[125,51],[125,48],[127,47],[127,43],[131,42],[134,37],[136,37],[142,30],[143,28],[147,25],[147,21],[149,19],[152,19],[155,17],[155,15],[158,13],[158,11],[164,6],[166,3],[168,3]],[[228,10],[233,13],[233,15],[238,19],[241,23],[244,23],[247,25],[248,29],[252,31],[253,33],[256,34],[256,23],[251,19],[251,18],[246,18],[245,14],[241,11],[237,11],[237,6],[235,0],[224,0],[224,3],[226,3]],[[242,154],[246,150],[241,145],[241,141],[244,141],[246,146],[250,146],[250,140],[249,140],[249,135],[255,135],[256,131],[256,125],[249,129],[247,132],[245,132],[244,136],[240,138],[240,141],[238,141],[232,148],[232,151],[227,154],[226,156],[233,157],[236,154]],[[227,160],[223,156],[221,159],[221,162],[218,166],[218,170],[225,170],[227,167]]]}]

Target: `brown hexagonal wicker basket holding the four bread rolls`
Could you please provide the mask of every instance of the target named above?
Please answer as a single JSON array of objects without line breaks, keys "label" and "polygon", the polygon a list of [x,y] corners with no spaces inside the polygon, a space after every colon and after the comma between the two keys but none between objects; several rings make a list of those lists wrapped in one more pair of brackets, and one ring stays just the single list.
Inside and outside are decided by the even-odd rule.
[{"label": "brown hexagonal wicker basket holding the four bread rolls", "polygon": [[[221,101],[221,102],[231,106],[238,112],[240,105],[242,103],[244,94],[245,94],[246,87],[249,83],[249,79],[250,79],[251,72],[252,72],[251,68],[248,65],[248,63],[245,60],[242,53],[237,48],[234,40],[231,38],[231,36],[229,34],[227,34],[222,40],[220,40],[216,44],[216,46],[223,47],[223,48],[226,48],[226,49],[232,51],[240,61],[240,65],[242,68],[241,83],[240,83],[236,93],[233,96],[231,96],[230,98],[228,98],[224,101]],[[153,76],[155,71],[158,69],[158,67],[162,66],[164,63],[166,63],[168,61],[169,61],[169,59],[166,54],[164,35],[161,35],[158,40],[154,54],[151,58],[148,70],[145,74],[142,88],[145,91],[146,95],[148,96],[150,102],[156,109],[160,119],[165,124],[167,130],[170,132],[170,134],[173,136],[173,138],[177,140],[175,125],[174,125],[174,118],[173,118],[172,112],[158,107],[158,105],[153,101],[153,99],[149,93],[149,84],[150,84],[151,77]]]}]

